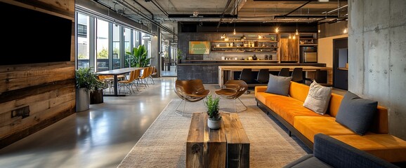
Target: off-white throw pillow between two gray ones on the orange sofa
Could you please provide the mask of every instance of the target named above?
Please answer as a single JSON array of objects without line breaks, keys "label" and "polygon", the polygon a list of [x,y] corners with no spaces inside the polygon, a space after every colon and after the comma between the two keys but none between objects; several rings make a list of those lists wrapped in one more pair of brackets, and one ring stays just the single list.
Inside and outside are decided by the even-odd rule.
[{"label": "off-white throw pillow between two gray ones on the orange sofa", "polygon": [[313,80],[303,106],[315,113],[324,115],[329,107],[330,97],[332,97],[332,87],[322,86]]}]

